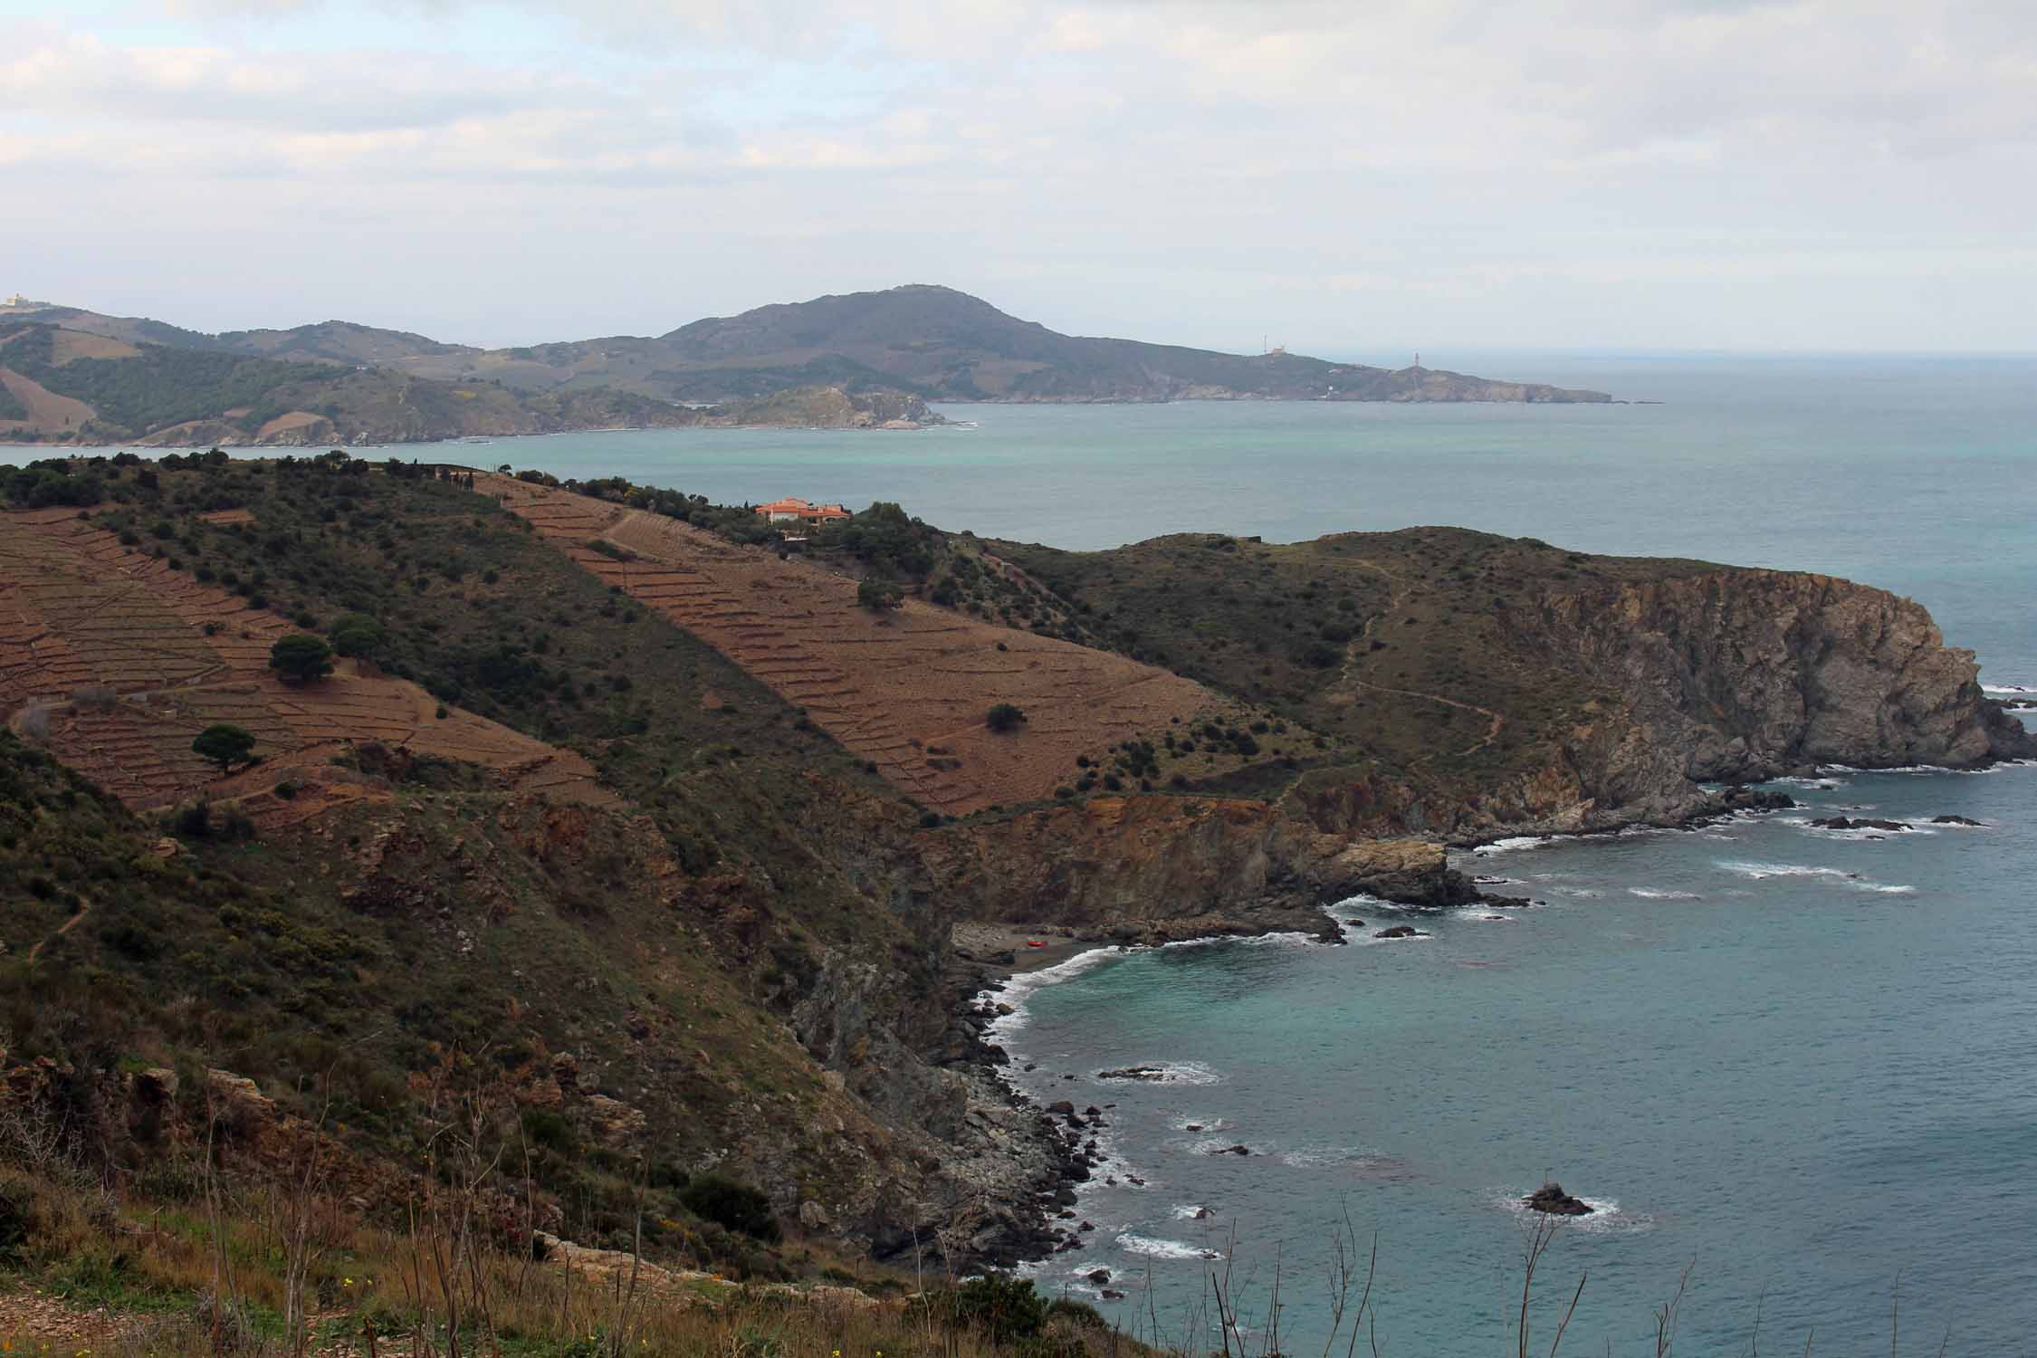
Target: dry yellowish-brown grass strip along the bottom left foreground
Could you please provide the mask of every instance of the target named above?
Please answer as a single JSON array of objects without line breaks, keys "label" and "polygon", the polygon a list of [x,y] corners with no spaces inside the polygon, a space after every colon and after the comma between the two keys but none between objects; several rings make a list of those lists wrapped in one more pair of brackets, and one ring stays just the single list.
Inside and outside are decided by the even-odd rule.
[{"label": "dry yellowish-brown grass strip along the bottom left foreground", "polygon": [[[301,1165],[297,1167],[304,1169]],[[363,1226],[299,1177],[206,1203],[153,1203],[0,1171],[26,1199],[31,1291],[0,1293],[0,1348],[26,1358],[998,1358],[1010,1346],[943,1325],[894,1285],[737,1285],[642,1262],[540,1262],[462,1215],[458,1173],[411,1203],[411,1230]],[[314,1185],[316,1187],[316,1185]],[[4,1270],[0,1270],[4,1277]],[[65,1327],[63,1319],[73,1323]],[[1049,1317],[1043,1358],[1145,1352],[1092,1317]]]}]

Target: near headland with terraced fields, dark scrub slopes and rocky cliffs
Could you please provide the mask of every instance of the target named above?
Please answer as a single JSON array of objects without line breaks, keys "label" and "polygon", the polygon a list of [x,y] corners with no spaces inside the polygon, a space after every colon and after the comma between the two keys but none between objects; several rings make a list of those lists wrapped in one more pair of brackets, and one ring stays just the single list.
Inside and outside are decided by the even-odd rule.
[{"label": "near headland with terraced fields, dark scrub slopes and rocky cliffs", "polygon": [[[1010,1262],[1080,1234],[1094,1122],[992,1079],[1002,963],[957,926],[1328,939],[1353,894],[1473,898],[1452,845],[2037,753],[1919,605],[1829,576],[1448,527],[1071,554],[898,505],[788,537],[444,472],[0,478],[0,967],[33,994],[0,1079],[96,1110],[116,1173],[206,1144],[206,1089],[249,1175],[330,1099],[334,1173],[401,1203],[458,1097],[524,1146],[505,1220],[560,1240]],[[293,635],[344,654],[285,676]]]}]

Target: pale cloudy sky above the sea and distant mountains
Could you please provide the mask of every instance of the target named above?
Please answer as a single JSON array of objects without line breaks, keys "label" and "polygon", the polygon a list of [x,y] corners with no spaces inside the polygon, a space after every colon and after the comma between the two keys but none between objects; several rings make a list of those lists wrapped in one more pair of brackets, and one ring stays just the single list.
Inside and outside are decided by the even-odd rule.
[{"label": "pale cloudy sky above the sea and distant mountains", "polygon": [[0,0],[0,293],[660,334],[2037,350],[2033,0]]}]

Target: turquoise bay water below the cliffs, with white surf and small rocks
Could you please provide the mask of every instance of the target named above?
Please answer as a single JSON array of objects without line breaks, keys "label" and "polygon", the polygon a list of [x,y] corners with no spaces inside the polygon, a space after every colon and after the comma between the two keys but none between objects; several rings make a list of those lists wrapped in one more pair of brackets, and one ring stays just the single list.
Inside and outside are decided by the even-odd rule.
[{"label": "turquoise bay water below the cliffs, with white surf and small rocks", "polygon": [[[1116,1106],[1118,1185],[1080,1203],[1094,1244],[1041,1264],[1041,1285],[1094,1299],[1084,1275],[1110,1268],[1120,1319],[1149,1323],[1151,1285],[1175,1338],[1224,1266],[1198,1250],[1249,1279],[1255,1327],[1279,1258],[1306,1352],[1348,1211],[1361,1246],[1379,1240],[1381,1352],[1511,1352],[1513,1203],[1554,1173],[1603,1211],[1544,1260],[1542,1350],[1556,1293],[1589,1275],[1566,1350],[1652,1352],[1650,1307],[1693,1264],[1678,1352],[1746,1352],[1756,1307],[1776,1350],[1815,1329],[1813,1352],[1886,1352],[1898,1277],[1903,1352],[1935,1352],[1945,1325],[1947,1352],[2031,1352],[2037,770],[1793,792],[1988,829],[1868,841],[1805,810],[1558,841],[1471,863],[1536,908],[1351,902],[1336,914],[1369,926],[1353,947],[1092,955],[1021,983],[1002,1040],[1039,1065],[1023,1083]],[[1369,939],[1399,922],[1430,937]],[[1175,1077],[1096,1077],[1141,1063]],[[1230,1144],[1253,1154],[1210,1154]],[[1214,1218],[1188,1220],[1200,1205]]]}]

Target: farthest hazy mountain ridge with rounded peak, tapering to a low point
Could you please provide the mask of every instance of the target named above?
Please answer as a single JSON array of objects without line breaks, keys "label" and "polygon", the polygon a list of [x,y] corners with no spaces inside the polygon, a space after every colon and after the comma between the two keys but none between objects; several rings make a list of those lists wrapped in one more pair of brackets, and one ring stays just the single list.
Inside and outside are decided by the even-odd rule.
[{"label": "farthest hazy mountain ridge with rounded peak, tapering to a low point", "polygon": [[[4,320],[4,312],[0,312]],[[55,307],[39,316],[128,344],[279,360],[387,366],[420,379],[515,391],[615,389],[658,401],[748,401],[792,387],[902,391],[929,401],[1609,401],[1442,369],[1377,369],[1302,354],[1222,354],[1175,344],[1067,336],[951,287],[764,305],[662,336],[519,348],[442,344],[420,334],[322,322],[295,330],[196,334],[151,320]]]}]

